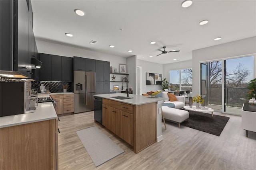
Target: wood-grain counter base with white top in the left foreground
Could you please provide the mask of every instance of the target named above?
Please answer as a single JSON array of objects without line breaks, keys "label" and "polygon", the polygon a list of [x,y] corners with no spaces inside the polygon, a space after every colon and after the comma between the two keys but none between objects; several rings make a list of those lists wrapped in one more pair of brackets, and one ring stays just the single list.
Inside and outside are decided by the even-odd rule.
[{"label": "wood-grain counter base with white top in the left foreground", "polygon": [[0,118],[0,169],[58,169],[58,123],[52,102]]}]

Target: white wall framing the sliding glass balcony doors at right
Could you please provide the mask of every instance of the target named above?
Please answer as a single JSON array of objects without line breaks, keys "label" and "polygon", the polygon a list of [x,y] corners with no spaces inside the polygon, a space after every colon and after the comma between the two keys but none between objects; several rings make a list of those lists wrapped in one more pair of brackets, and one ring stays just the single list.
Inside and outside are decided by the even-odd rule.
[{"label": "white wall framing the sliding glass balcony doors at right", "polygon": [[254,54],[254,78],[256,77],[256,37],[232,41],[192,51],[193,94],[200,94],[200,63],[230,59]]}]

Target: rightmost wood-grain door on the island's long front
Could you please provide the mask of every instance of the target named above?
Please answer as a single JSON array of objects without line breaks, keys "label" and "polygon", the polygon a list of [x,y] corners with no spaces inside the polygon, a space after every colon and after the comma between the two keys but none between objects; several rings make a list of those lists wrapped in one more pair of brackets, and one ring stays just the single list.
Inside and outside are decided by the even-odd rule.
[{"label": "rightmost wood-grain door on the island's long front", "polygon": [[133,114],[121,111],[121,138],[133,146]]}]

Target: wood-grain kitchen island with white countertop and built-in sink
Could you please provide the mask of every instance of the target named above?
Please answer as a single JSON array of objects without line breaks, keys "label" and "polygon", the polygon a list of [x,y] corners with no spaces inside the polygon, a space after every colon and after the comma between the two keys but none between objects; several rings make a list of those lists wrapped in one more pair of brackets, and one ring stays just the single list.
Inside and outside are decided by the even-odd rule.
[{"label": "wood-grain kitchen island with white countertop and built-in sink", "polygon": [[97,94],[102,98],[102,125],[138,153],[162,140],[163,98],[129,94]]}]

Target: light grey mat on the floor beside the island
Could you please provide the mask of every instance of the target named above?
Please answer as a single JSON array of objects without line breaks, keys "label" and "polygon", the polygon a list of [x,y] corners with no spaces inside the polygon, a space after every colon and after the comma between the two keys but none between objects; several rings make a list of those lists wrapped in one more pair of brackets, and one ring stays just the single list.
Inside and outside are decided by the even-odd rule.
[{"label": "light grey mat on the floor beside the island", "polygon": [[124,152],[96,126],[76,133],[96,167]]}]

